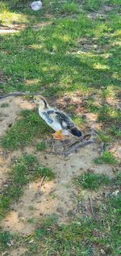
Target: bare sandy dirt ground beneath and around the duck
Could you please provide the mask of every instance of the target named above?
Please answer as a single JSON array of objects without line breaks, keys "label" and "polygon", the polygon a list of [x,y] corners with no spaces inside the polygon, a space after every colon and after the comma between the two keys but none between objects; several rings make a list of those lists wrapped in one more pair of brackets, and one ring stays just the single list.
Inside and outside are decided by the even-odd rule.
[{"label": "bare sandy dirt ground beneath and around the duck", "polygon": [[[1,103],[9,103],[9,108],[1,107],[1,130],[0,136],[4,135],[10,124],[14,124],[19,118],[19,111],[22,109],[32,109],[33,105],[26,99],[21,97],[9,97],[2,99]],[[60,100],[58,100],[58,105]],[[8,111],[9,110],[9,111]],[[95,125],[95,116],[86,115],[88,124]],[[55,145],[58,147],[58,142]],[[114,147],[115,154],[120,147]],[[77,153],[64,157],[63,155],[54,155],[51,152],[34,152],[34,148],[27,147],[23,149],[23,153],[35,154],[40,163],[51,168],[56,178],[51,182],[44,182],[38,179],[24,187],[23,196],[17,203],[12,206],[12,209],[2,220],[2,227],[10,232],[19,232],[23,235],[30,235],[35,229],[35,224],[28,223],[27,220],[41,220],[44,216],[56,214],[59,217],[60,223],[66,223],[73,219],[74,216],[91,216],[90,196],[96,204],[100,204],[100,199],[103,193],[99,190],[97,193],[81,190],[81,202],[77,201],[77,187],[73,184],[73,178],[84,171],[90,171],[97,174],[109,174],[113,176],[114,167],[108,165],[96,166],[94,158],[99,156],[100,149],[98,143],[87,145],[83,149],[79,149]],[[20,150],[14,152],[3,152],[0,149],[0,184],[7,186],[7,174],[10,171],[10,163],[22,155]],[[43,183],[42,183],[43,182]],[[25,250],[23,248],[23,250]],[[19,253],[20,252],[20,253]],[[22,250],[18,251],[18,255],[22,254]],[[16,251],[10,255],[16,255]]]}]

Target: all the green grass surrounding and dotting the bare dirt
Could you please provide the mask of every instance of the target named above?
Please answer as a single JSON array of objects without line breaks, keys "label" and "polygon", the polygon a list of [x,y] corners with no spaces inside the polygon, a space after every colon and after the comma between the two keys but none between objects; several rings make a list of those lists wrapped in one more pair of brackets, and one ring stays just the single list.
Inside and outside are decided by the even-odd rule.
[{"label": "all the green grass surrounding and dotting the bare dirt", "polygon": [[[120,91],[120,23],[119,0],[56,1],[45,0],[43,9],[32,11],[29,1],[0,1],[0,23],[2,28],[15,26],[15,33],[0,34],[0,92],[10,91],[40,92],[44,96],[81,94],[81,97],[94,93],[101,103],[86,99],[81,112],[97,114],[102,123],[98,132],[99,141],[107,145],[120,138],[120,111],[107,104],[107,99],[119,100]],[[111,6],[103,17],[97,11],[103,5]],[[94,11],[92,11],[94,10]],[[89,14],[92,18],[89,18]],[[42,25],[42,26],[41,26]],[[5,27],[3,27],[5,26]],[[1,103],[0,107],[9,107]],[[8,108],[9,109],[9,108]],[[69,104],[67,110],[72,114],[75,107]],[[73,117],[78,126],[83,121]],[[51,129],[40,119],[37,111],[22,111],[19,119],[2,137],[1,146],[10,151],[34,145],[36,150],[44,150],[44,143],[35,142],[51,134]],[[113,155],[105,151],[95,159],[96,164],[115,165]],[[23,155],[11,166],[7,187],[2,190],[1,217],[6,215],[14,202],[23,195],[23,188],[30,181],[43,176],[54,178],[52,170],[41,166],[35,156]],[[77,179],[79,186],[98,190],[106,185],[108,189],[119,189],[120,173],[115,178],[103,174],[82,174]],[[88,192],[88,191],[87,191]],[[52,195],[54,196],[54,195]],[[10,254],[11,247],[27,247],[24,256],[33,255],[76,255],[90,256],[94,248],[98,254],[119,256],[120,244],[120,193],[110,198],[102,198],[98,207],[94,202],[97,220],[84,216],[73,217],[68,225],[59,225],[56,216],[40,220],[29,220],[35,224],[31,237],[15,236],[4,229],[0,235],[2,253]],[[34,211],[31,205],[31,211]],[[29,222],[28,221],[28,222]],[[32,238],[32,242],[31,241]],[[13,241],[13,246],[9,244]],[[7,253],[6,253],[7,254]]]}]

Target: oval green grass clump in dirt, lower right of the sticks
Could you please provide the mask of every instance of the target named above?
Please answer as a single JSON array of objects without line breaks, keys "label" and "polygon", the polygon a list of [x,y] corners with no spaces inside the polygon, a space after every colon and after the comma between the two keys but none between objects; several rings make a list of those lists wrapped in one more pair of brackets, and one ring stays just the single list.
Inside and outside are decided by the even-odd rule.
[{"label": "oval green grass clump in dirt, lower right of the sticks", "polygon": [[76,178],[76,183],[86,189],[97,190],[104,184],[108,184],[110,178],[104,174],[84,173]]}]

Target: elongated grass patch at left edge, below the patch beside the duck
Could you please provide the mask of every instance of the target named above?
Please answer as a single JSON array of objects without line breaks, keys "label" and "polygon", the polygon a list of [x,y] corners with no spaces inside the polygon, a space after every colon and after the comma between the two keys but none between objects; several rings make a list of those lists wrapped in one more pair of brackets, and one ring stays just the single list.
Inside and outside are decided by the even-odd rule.
[{"label": "elongated grass patch at left edge, below the patch beside the duck", "polygon": [[52,170],[41,166],[35,156],[23,155],[23,157],[17,159],[15,165],[12,166],[10,182],[2,190],[0,216],[4,217],[10,209],[10,205],[23,194],[23,186],[36,178],[44,176],[48,179],[54,178]]}]

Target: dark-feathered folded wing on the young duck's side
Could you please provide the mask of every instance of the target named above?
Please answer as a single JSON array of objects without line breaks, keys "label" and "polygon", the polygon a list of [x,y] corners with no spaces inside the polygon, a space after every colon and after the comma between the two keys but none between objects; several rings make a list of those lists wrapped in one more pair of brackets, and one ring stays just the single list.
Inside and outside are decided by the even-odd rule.
[{"label": "dark-feathered folded wing on the young duck's side", "polygon": [[72,128],[75,128],[75,124],[73,124],[73,121],[64,112],[55,111],[55,114],[56,114],[56,119],[60,122],[60,125],[62,126],[62,128],[66,128],[70,130]]}]

